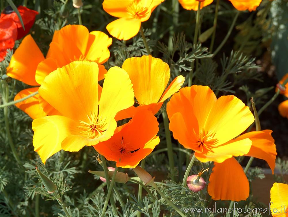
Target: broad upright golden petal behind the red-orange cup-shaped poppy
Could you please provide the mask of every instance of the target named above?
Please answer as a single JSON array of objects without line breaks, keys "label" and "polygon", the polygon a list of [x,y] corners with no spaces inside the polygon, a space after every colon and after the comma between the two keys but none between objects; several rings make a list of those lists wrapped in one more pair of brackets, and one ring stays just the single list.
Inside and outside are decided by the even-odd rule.
[{"label": "broad upright golden petal behind the red-orange cup-shaped poppy", "polygon": [[149,55],[128,58],[122,68],[129,74],[135,97],[140,105],[158,103],[170,78],[167,63]]}]

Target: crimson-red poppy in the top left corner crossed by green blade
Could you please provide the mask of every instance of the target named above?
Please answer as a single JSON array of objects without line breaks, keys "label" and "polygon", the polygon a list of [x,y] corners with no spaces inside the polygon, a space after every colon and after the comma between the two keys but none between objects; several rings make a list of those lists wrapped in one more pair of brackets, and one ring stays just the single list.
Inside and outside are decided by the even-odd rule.
[{"label": "crimson-red poppy in the top left corner crossed by green blade", "polygon": [[6,50],[14,47],[15,41],[26,35],[35,22],[37,11],[30,10],[24,6],[17,7],[25,30],[14,10],[8,6],[1,13],[0,17],[0,61],[3,61],[6,56]]}]

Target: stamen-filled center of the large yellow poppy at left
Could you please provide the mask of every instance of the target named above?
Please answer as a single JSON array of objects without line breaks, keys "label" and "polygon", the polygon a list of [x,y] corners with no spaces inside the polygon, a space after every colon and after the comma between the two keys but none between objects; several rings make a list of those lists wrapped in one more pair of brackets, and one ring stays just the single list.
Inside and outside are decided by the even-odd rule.
[{"label": "stamen-filled center of the large yellow poppy at left", "polygon": [[88,122],[80,120],[80,125],[78,128],[83,130],[80,133],[86,135],[88,139],[94,139],[102,136],[107,129],[106,118],[102,120],[102,118],[97,116],[95,113],[90,113],[90,115],[87,115],[87,117],[89,120]]}]

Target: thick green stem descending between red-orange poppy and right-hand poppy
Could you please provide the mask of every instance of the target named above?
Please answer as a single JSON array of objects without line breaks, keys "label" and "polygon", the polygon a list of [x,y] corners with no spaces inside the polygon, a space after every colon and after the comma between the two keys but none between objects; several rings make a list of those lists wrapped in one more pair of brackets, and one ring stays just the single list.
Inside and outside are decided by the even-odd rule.
[{"label": "thick green stem descending between red-orange poppy and right-hand poppy", "polygon": [[171,141],[171,134],[169,130],[169,121],[167,113],[164,111],[162,112],[164,128],[165,128],[165,136],[166,136],[166,144],[167,144],[167,152],[168,152],[168,161],[169,167],[171,171],[171,179],[174,180],[174,157],[173,157],[173,150],[172,150],[172,141]]}]

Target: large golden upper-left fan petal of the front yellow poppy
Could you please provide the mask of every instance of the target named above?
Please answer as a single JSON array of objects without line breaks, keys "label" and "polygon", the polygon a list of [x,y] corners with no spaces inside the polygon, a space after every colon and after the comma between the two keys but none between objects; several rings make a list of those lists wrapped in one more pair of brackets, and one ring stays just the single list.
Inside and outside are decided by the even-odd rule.
[{"label": "large golden upper-left fan petal of the front yellow poppy", "polygon": [[46,76],[39,93],[64,116],[88,122],[87,115],[98,113],[98,65],[74,61],[58,68]]}]

